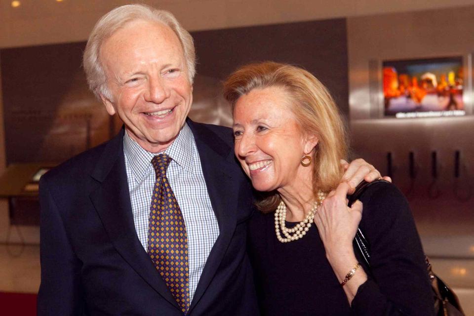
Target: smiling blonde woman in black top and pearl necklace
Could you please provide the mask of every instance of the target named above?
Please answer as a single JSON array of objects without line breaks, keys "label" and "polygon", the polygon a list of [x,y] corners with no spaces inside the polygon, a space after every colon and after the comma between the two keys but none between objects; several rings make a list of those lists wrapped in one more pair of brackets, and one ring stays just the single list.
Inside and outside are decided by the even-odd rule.
[{"label": "smiling blonde woman in black top and pearl necklace", "polygon": [[[326,88],[303,69],[265,62],[237,70],[224,91],[235,154],[263,192],[248,238],[262,314],[434,315],[405,198],[379,183],[346,204],[345,128]],[[353,247],[359,226],[370,269]]]}]

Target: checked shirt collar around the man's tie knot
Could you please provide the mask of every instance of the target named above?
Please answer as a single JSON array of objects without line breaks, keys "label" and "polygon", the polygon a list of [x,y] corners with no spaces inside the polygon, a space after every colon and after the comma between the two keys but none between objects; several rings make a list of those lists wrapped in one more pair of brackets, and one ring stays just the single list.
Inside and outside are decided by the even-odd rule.
[{"label": "checked shirt collar around the man's tie knot", "polygon": [[[171,159],[173,159],[180,167],[193,173],[193,159],[195,156],[193,150],[195,146],[193,145],[193,132],[188,124],[185,123],[176,139],[163,153],[171,157]],[[137,142],[128,136],[126,130],[123,135],[123,152],[137,181],[140,181],[147,176],[148,168],[152,165],[152,158],[158,155],[158,153],[150,153],[143,149]]]}]

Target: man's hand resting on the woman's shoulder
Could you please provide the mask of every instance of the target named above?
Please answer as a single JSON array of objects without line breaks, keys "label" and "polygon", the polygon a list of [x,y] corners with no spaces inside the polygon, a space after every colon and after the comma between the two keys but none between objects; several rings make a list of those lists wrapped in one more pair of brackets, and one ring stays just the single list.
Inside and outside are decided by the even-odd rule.
[{"label": "man's hand resting on the woman's shoulder", "polygon": [[[341,182],[347,182],[351,189],[348,191],[349,194],[354,193],[356,186],[365,180],[367,182],[372,182],[374,180],[380,179],[382,176],[380,172],[375,169],[375,167],[362,158],[353,160],[351,163],[346,160],[341,160],[346,172],[342,176]],[[392,182],[390,177],[383,177],[382,179]]]}]

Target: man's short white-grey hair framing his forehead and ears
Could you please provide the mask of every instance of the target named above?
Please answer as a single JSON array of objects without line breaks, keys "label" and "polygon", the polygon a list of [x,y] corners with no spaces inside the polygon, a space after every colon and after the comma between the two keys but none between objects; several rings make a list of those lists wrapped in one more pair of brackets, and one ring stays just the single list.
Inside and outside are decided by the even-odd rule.
[{"label": "man's short white-grey hair framing his forehead and ears", "polygon": [[189,82],[193,83],[196,74],[196,52],[193,37],[179,24],[174,15],[145,4],[122,5],[104,15],[96,23],[85,46],[82,64],[89,88],[98,99],[102,94],[112,100],[107,87],[107,78],[99,60],[100,48],[104,41],[114,33],[126,24],[137,20],[163,23],[176,34],[184,52]]}]

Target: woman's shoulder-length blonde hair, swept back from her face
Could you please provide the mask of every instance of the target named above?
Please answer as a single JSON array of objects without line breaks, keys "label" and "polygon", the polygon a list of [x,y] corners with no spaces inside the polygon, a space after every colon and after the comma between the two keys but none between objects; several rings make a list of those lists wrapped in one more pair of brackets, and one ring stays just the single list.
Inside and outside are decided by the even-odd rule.
[{"label": "woman's shoulder-length blonde hair, swept back from her face", "polygon": [[[254,89],[281,87],[294,101],[291,110],[304,133],[318,139],[313,154],[313,190],[329,192],[337,187],[343,175],[340,159],[347,156],[346,127],[326,87],[312,74],[299,67],[262,62],[243,66],[224,83],[224,97],[234,108],[237,100]],[[262,193],[257,206],[262,212],[276,209],[280,202],[276,192]]]}]

